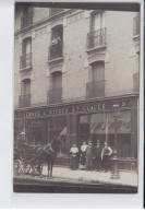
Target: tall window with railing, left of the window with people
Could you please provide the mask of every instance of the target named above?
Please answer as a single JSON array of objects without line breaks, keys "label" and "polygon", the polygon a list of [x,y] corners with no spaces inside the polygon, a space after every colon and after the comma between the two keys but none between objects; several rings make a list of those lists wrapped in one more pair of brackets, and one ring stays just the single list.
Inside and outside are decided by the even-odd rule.
[{"label": "tall window with railing, left of the window with people", "polygon": [[23,40],[22,56],[20,58],[20,68],[32,68],[32,37]]}]

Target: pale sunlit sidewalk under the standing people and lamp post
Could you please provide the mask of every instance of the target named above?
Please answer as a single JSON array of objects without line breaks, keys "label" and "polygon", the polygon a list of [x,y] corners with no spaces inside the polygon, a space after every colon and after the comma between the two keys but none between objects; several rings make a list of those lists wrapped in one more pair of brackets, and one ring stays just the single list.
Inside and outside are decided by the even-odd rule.
[{"label": "pale sunlit sidewalk under the standing people and lamp post", "polygon": [[[43,175],[47,175],[47,166],[43,168]],[[116,184],[126,186],[137,186],[137,173],[135,172],[120,172],[120,179],[110,179],[111,173],[98,173],[89,170],[71,170],[67,167],[53,167],[52,176],[56,178],[63,178],[64,180],[77,180],[82,182],[99,182],[99,184]]]}]

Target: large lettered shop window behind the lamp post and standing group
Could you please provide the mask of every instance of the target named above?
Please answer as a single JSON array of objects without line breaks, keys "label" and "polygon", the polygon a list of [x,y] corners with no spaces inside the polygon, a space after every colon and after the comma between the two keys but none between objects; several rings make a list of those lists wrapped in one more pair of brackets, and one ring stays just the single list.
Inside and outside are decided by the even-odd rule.
[{"label": "large lettered shop window behind the lamp post and standing group", "polygon": [[[90,115],[90,139],[96,144],[97,139],[101,145],[105,141],[114,150],[114,117],[113,113]],[[118,157],[131,156],[131,111],[121,111],[117,123]]]}]

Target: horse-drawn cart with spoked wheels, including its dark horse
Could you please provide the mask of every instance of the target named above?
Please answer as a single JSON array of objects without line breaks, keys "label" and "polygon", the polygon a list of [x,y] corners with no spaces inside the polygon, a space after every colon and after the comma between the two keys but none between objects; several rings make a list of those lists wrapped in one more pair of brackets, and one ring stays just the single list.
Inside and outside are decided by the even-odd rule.
[{"label": "horse-drawn cart with spoked wheels, including its dark horse", "polygon": [[20,145],[22,148],[14,149],[14,175],[41,175],[43,164],[47,164],[48,177],[52,177],[52,167],[60,143],[60,137],[44,145],[32,145],[23,142],[23,145]]}]

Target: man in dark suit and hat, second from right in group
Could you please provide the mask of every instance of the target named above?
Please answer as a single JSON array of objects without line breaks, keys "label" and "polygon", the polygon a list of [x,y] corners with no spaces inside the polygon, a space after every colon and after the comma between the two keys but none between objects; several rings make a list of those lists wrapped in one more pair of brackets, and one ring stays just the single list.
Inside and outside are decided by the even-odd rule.
[{"label": "man in dark suit and hat, second from right in group", "polygon": [[94,161],[97,172],[101,172],[101,151],[100,140],[97,140],[97,145],[94,148]]}]

